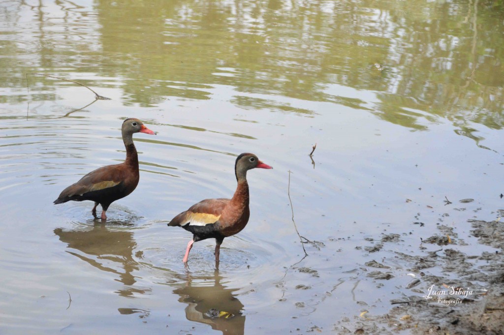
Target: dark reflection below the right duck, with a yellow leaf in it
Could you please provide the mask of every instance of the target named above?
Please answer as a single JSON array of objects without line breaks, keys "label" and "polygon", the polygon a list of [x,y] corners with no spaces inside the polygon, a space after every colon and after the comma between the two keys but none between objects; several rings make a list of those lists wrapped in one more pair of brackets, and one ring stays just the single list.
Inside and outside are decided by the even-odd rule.
[{"label": "dark reflection below the right duck, with a yellow leaf in it", "polygon": [[[212,329],[222,331],[223,335],[243,335],[243,304],[233,294],[238,289],[222,285],[222,279],[218,269],[213,276],[191,277],[187,274],[185,286],[175,289],[173,293],[180,296],[178,301],[187,304],[187,320],[209,324]],[[214,285],[208,286],[211,281]]]}]

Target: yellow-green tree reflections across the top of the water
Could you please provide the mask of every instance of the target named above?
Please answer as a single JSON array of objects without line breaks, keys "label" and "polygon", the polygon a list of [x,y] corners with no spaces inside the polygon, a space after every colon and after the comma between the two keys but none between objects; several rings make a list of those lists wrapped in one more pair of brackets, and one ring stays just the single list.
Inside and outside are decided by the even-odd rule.
[{"label": "yellow-green tree reflections across the top of the water", "polygon": [[[215,85],[228,85],[235,90],[230,101],[241,108],[317,117],[295,98],[369,110],[412,129],[426,129],[430,122],[423,119],[436,118],[450,120],[460,134],[471,123],[502,128],[501,1],[99,1],[96,22],[88,9],[30,10],[40,32],[24,35],[36,36],[30,38],[37,38],[40,60],[29,64],[53,69],[65,59],[81,73],[124,78],[127,104],[209,99]],[[50,33],[56,16],[66,39]],[[13,25],[15,18],[0,13]],[[82,22],[86,29],[79,29]],[[99,34],[85,33],[93,29]],[[8,42],[5,49],[19,48]],[[6,65],[0,68],[30,72],[13,59],[0,57]],[[375,71],[375,62],[385,70]],[[9,86],[19,80],[4,77]],[[344,96],[339,87],[378,92],[379,101]]]}]

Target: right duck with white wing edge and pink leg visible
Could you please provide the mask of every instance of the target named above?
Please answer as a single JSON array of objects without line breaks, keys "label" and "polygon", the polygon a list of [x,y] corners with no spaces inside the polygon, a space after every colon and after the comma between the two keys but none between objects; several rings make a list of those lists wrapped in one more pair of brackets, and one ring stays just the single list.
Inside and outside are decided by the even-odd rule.
[{"label": "right duck with white wing edge and pink leg visible", "polygon": [[273,169],[250,153],[240,154],[234,164],[237,186],[231,199],[205,199],[175,216],[168,226],[179,226],[193,233],[182,259],[187,267],[193,244],[207,238],[215,238],[215,262],[219,263],[220,246],[224,238],[239,233],[245,228],[250,216],[247,171],[255,168]]}]

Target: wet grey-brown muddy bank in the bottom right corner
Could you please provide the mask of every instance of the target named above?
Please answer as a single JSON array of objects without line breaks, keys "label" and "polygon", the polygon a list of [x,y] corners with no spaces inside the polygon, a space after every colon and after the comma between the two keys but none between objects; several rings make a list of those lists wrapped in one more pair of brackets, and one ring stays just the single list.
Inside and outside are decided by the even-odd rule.
[{"label": "wet grey-brown muddy bank in the bottom right corner", "polygon": [[[503,213],[499,213],[503,214]],[[391,299],[391,308],[383,315],[356,316],[335,324],[338,334],[503,334],[504,333],[504,223],[499,221],[469,221],[469,236],[478,243],[497,248],[494,252],[465,254],[457,245],[467,245],[453,228],[439,225],[438,233],[422,240],[424,245],[439,245],[439,250],[427,255],[412,256],[397,252],[397,257],[409,265],[412,280],[405,285],[411,292]],[[368,252],[380,250],[398,236],[386,235],[368,247]],[[377,285],[388,280],[393,272],[378,261],[365,264],[368,277]],[[429,269],[442,269],[433,275]],[[436,271],[432,271],[435,273]]]}]

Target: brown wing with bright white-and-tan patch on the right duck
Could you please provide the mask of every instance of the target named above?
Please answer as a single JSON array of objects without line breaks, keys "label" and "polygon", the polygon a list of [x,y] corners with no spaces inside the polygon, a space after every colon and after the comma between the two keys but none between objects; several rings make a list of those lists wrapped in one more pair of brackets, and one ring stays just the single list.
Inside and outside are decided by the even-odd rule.
[{"label": "brown wing with bright white-and-tan patch on the right duck", "polygon": [[216,223],[230,199],[205,199],[174,217],[168,226],[205,226]]}]

